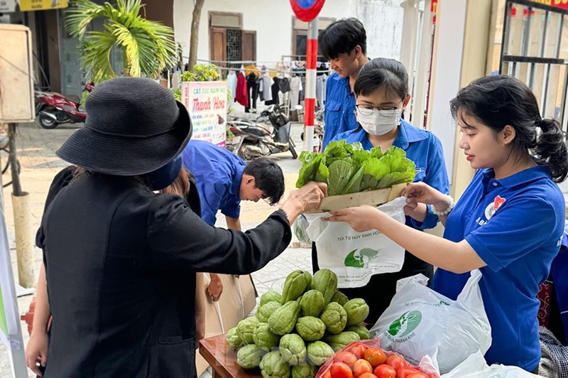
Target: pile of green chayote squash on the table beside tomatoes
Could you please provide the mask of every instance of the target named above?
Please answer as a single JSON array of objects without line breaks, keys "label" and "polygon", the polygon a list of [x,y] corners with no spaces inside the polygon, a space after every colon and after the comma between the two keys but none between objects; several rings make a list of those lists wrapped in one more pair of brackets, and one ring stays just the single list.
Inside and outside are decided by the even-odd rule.
[{"label": "pile of green chayote squash on the table beside tomatoes", "polygon": [[337,291],[337,276],[329,269],[293,271],[282,294],[261,296],[256,314],[241,320],[226,334],[238,350],[237,363],[261,368],[263,377],[315,377],[334,351],[369,338],[363,321],[368,305]]}]

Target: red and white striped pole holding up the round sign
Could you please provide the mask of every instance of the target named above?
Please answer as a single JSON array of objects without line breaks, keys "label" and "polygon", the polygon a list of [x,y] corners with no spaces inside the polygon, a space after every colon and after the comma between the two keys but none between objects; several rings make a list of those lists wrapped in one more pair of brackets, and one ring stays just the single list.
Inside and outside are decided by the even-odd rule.
[{"label": "red and white striped pole holding up the round sign", "polygon": [[[306,151],[317,151],[319,147],[314,143],[317,21],[318,17],[307,23],[306,88],[304,102],[304,148]],[[320,139],[317,139],[317,144],[319,143]]]}]

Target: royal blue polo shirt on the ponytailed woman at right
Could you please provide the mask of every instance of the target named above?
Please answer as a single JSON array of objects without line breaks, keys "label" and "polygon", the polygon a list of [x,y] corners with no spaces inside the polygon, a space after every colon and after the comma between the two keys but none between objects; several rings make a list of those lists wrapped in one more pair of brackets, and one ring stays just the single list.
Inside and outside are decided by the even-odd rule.
[{"label": "royal blue polo shirt on the ponytailed woman at right", "polygon": [[[444,237],[466,239],[487,264],[481,296],[493,342],[485,358],[532,371],[540,361],[536,298],[559,252],[564,197],[545,166],[496,180],[480,170],[449,214]],[[432,288],[456,299],[469,273],[437,269]]]}]

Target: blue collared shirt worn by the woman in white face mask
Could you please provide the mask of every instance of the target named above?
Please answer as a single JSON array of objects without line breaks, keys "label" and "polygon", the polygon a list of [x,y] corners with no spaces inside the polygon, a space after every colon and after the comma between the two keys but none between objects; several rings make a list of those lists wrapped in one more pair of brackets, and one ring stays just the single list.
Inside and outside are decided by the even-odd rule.
[{"label": "blue collared shirt worn by the woman in white face mask", "polygon": [[[347,143],[360,142],[366,150],[373,148],[373,145],[367,138],[366,131],[362,127],[339,134],[335,136],[333,141],[342,139],[345,139]],[[416,164],[415,182],[422,181],[444,194],[449,193],[449,179],[446,163],[444,163],[444,151],[442,143],[440,143],[437,136],[430,131],[418,129],[401,119],[398,135],[393,141],[393,146],[402,148],[406,152],[406,157]],[[428,212],[424,222],[417,222],[411,217],[406,217],[406,224],[415,229],[436,227],[438,217],[432,213],[430,205],[427,208]]]}]

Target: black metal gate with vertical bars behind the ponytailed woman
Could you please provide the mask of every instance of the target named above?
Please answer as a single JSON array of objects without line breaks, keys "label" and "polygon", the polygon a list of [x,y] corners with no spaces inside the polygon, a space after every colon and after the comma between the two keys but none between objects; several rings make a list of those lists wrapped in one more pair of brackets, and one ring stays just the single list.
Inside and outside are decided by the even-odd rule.
[{"label": "black metal gate with vertical bars behind the ponytailed woman", "polygon": [[542,117],[557,119],[567,131],[568,9],[547,2],[506,0],[499,72],[523,80]]}]

